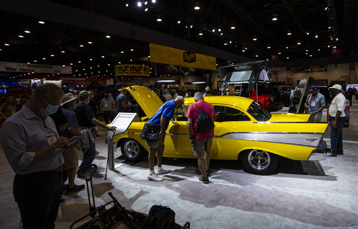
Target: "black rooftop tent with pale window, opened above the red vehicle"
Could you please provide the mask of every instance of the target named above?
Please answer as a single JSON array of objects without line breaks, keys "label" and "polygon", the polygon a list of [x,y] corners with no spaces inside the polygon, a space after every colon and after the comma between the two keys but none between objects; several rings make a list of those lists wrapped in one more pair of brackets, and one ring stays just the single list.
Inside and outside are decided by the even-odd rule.
[{"label": "black rooftop tent with pale window, opened above the red vehicle", "polygon": [[230,64],[219,68],[224,84],[229,83],[269,83],[269,66],[266,61]]}]

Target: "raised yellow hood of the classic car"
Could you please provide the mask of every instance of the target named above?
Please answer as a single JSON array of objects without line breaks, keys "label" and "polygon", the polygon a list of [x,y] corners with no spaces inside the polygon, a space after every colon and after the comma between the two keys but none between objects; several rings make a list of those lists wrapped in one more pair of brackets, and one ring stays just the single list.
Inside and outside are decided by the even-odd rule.
[{"label": "raised yellow hood of the classic car", "polygon": [[144,86],[129,86],[126,89],[131,93],[149,119],[153,117],[161,105],[163,105],[158,95],[156,95],[153,90],[149,90]]}]

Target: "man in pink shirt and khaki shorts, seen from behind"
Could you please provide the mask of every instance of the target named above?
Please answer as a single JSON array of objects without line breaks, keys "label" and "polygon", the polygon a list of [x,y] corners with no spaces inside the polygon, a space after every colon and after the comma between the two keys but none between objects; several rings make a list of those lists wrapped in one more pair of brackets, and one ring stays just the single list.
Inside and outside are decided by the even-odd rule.
[{"label": "man in pink shirt and khaki shorts, seen from behind", "polygon": [[199,180],[204,184],[209,184],[208,175],[210,174],[210,147],[213,143],[214,128],[211,130],[199,133],[197,130],[197,116],[200,109],[203,109],[214,122],[216,114],[208,102],[204,102],[203,93],[197,92],[194,95],[195,103],[189,106],[186,117],[188,118],[188,130],[190,144],[193,146],[193,155],[198,157],[198,166],[202,175]]}]

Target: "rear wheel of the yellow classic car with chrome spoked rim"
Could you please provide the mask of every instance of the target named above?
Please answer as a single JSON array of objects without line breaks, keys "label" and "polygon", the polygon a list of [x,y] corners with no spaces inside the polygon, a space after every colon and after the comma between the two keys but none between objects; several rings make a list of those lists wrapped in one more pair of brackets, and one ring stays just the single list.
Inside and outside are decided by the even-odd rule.
[{"label": "rear wheel of the yellow classic car with chrome spoked rim", "polygon": [[241,163],[249,173],[270,175],[276,169],[278,160],[272,153],[253,149],[244,153]]}]

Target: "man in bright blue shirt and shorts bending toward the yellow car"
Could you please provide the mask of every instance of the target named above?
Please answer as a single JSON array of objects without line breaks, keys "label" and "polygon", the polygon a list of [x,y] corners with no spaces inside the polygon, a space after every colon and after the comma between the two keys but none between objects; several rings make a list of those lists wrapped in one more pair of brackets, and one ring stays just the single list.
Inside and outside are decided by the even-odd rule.
[{"label": "man in bright blue shirt and shorts bending toward the yellow car", "polygon": [[[149,145],[149,174],[147,178],[153,181],[162,181],[158,175],[164,173],[170,173],[170,170],[165,170],[161,168],[161,159],[163,157],[164,151],[164,138],[165,138],[165,130],[168,129],[170,119],[173,118],[175,108],[179,108],[184,104],[183,96],[177,96],[174,99],[167,101],[164,103],[159,110],[153,115],[153,117],[149,120],[149,124],[160,125],[160,132],[157,138],[157,141],[150,142],[146,141],[146,145]],[[157,154],[158,159],[158,168],[156,173],[154,173],[154,161],[155,154]]]}]

